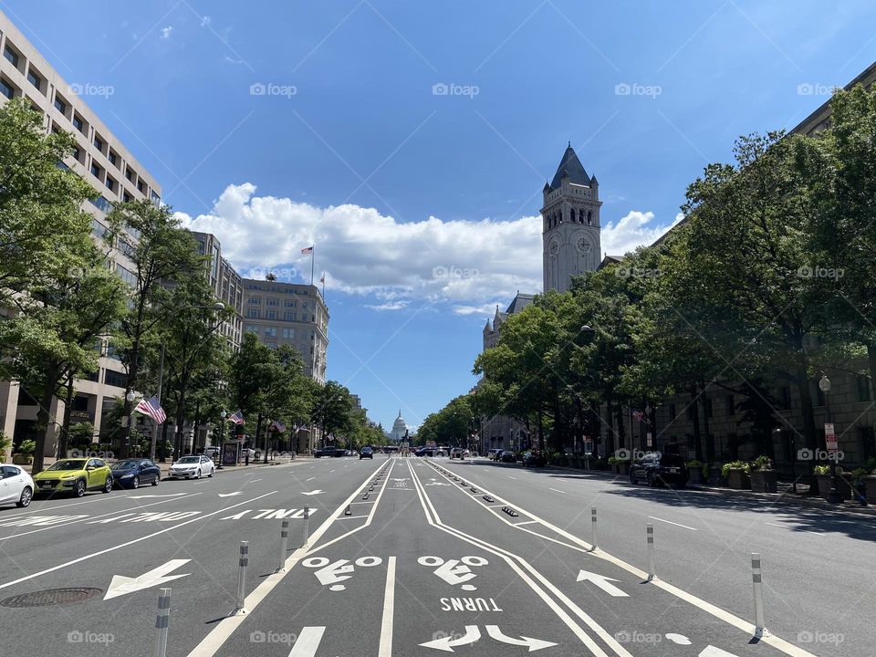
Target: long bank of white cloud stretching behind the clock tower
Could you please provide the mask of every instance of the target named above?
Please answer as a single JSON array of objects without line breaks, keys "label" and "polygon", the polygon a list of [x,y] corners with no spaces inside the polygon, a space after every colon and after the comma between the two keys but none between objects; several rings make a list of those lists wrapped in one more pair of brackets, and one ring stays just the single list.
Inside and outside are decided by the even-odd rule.
[{"label": "long bank of white cloud stretching behind the clock tower", "polygon": [[[245,276],[272,271],[280,280],[309,282],[372,297],[377,311],[401,310],[413,300],[447,303],[457,315],[492,315],[517,291],[541,288],[541,220],[443,221],[430,216],[402,224],[374,208],[344,204],[320,208],[289,198],[258,196],[252,183],[231,184],[209,214],[177,213],[188,228],[217,235],[223,255]],[[666,226],[650,212],[631,212],[602,229],[602,250],[623,253],[650,244]],[[676,219],[677,221],[677,219]]]}]

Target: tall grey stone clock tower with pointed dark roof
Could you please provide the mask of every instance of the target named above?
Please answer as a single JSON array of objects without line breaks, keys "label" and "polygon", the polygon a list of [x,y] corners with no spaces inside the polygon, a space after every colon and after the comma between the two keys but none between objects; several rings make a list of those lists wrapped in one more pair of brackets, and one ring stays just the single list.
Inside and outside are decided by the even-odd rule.
[{"label": "tall grey stone clock tower with pointed dark roof", "polygon": [[569,143],[541,208],[544,290],[565,292],[572,276],[600,265],[600,183]]}]

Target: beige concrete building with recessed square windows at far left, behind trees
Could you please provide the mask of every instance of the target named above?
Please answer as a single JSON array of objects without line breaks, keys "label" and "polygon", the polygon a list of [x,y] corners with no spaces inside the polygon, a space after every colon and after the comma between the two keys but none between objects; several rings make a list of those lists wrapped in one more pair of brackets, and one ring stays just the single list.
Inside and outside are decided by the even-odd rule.
[{"label": "beige concrete building with recessed square windows at far left, behind trees", "polygon": [[[58,75],[48,61],[5,14],[0,13],[0,103],[7,99],[24,97],[43,115],[48,131],[65,130],[76,137],[77,148],[72,157],[59,166],[77,172],[99,191],[96,201],[86,202],[84,209],[91,214],[95,238],[106,231],[106,216],[111,204],[131,199],[149,199],[161,203],[161,187],[146,168],[107,128],[85,101],[77,95],[77,85],[70,85]],[[134,280],[130,260],[124,251],[136,242],[139,235],[127,231],[110,254],[110,266],[120,276]],[[118,427],[102,422],[106,411],[125,394],[127,377],[120,361],[114,357],[110,345],[100,345],[98,370],[74,383],[72,422],[92,422],[95,441],[108,441]],[[61,401],[53,402],[51,415],[60,420],[64,412]],[[0,382],[0,430],[14,438],[15,443],[32,437],[36,422],[34,396],[14,382]],[[47,431],[46,454],[54,451],[57,428]]]}]

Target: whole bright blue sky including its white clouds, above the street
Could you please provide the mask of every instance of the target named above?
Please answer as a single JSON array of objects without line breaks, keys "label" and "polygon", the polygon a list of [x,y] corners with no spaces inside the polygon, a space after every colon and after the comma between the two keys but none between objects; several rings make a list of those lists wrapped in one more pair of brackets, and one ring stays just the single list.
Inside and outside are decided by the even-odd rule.
[{"label": "whole bright blue sky including its white clouds, above the street", "polygon": [[540,287],[535,217],[567,141],[622,252],[737,135],[792,128],[876,58],[871,2],[0,9],[69,83],[112,89],[89,105],[236,266],[309,279],[316,244],[328,374],[384,426],[467,391],[485,313]]}]

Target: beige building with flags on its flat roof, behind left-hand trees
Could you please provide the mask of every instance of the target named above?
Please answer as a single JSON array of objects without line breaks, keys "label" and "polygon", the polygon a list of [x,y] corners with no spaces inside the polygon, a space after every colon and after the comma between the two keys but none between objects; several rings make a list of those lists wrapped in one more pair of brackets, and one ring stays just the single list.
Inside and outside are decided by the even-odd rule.
[{"label": "beige building with flags on its flat roof, behind left-hand trees", "polygon": [[312,285],[245,278],[244,330],[268,347],[297,349],[304,371],[314,381],[326,381],[328,308]]}]

